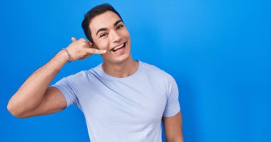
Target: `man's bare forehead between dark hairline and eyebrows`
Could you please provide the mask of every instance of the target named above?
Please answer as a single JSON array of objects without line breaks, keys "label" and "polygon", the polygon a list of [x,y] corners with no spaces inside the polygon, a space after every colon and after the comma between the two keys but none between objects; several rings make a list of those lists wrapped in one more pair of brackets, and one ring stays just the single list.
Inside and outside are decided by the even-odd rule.
[{"label": "man's bare forehead between dark hairline and eyebrows", "polygon": [[118,20],[121,20],[121,18],[118,17],[116,13],[106,11],[105,13],[101,13],[100,15],[92,18],[88,26],[91,29],[91,33],[93,33],[98,31],[99,28],[109,28],[110,26],[113,26],[113,24]]}]

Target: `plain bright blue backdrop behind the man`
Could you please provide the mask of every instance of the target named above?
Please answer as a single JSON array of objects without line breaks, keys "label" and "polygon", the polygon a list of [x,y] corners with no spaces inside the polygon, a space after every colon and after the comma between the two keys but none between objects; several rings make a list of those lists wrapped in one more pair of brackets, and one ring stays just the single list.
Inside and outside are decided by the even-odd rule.
[{"label": "plain bright blue backdrop behind the man", "polygon": [[[71,37],[85,38],[83,14],[112,4],[131,34],[135,60],[173,75],[185,141],[271,141],[270,1],[0,2],[0,141],[89,141],[81,111],[18,119],[11,96]],[[102,62],[67,63],[52,83]],[[163,136],[164,139],[164,136]]]}]

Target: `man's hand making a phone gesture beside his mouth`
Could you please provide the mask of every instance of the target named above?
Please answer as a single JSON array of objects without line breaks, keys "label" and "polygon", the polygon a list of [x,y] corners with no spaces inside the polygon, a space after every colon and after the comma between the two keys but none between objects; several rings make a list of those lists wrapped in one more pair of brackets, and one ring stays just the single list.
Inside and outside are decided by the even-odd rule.
[{"label": "man's hand making a phone gesture beside his mouth", "polygon": [[76,38],[71,38],[72,42],[66,50],[70,53],[73,60],[82,60],[90,57],[92,54],[104,54],[107,50],[98,50],[94,48],[93,43],[87,41],[84,38],[76,40]]}]

